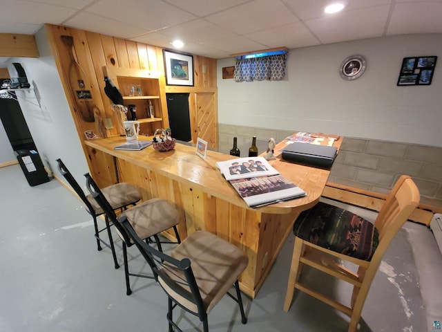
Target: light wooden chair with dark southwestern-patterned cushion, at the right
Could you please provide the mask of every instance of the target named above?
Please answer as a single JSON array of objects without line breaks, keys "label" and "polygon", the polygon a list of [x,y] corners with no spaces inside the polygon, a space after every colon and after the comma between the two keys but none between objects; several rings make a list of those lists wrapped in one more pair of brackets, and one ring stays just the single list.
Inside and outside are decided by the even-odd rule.
[{"label": "light wooden chair with dark southwestern-patterned cushion, at the right", "polygon": [[[318,203],[302,212],[294,225],[294,252],[284,311],[289,311],[297,288],[349,315],[348,331],[356,331],[365,298],[384,252],[417,205],[418,188],[410,176],[401,176],[387,196],[374,225],[356,214],[326,203]],[[340,264],[341,261],[356,264],[357,272]],[[350,305],[301,284],[299,277],[304,265],[352,284]]]}]

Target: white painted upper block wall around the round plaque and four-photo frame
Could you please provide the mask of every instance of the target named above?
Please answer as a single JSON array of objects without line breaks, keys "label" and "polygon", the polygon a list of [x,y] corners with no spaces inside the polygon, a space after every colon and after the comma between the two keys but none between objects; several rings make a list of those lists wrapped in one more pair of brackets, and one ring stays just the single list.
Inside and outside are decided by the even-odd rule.
[{"label": "white painted upper block wall around the round plaque and four-photo frame", "polygon": [[[354,81],[338,71],[349,55],[363,55],[367,70]],[[430,86],[396,86],[403,57],[437,55]],[[286,79],[222,79],[218,60],[221,124],[320,131],[442,147],[442,35],[365,39],[290,50]],[[439,133],[439,134],[436,134]]]}]

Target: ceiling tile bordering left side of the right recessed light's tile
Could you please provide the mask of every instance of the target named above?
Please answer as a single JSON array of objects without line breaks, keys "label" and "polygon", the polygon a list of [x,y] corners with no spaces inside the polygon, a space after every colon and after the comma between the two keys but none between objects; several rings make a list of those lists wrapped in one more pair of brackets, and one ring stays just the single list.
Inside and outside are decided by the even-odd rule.
[{"label": "ceiling tile bordering left side of the right recessed light's tile", "polygon": [[280,0],[256,0],[206,17],[238,34],[255,33],[298,21]]}]

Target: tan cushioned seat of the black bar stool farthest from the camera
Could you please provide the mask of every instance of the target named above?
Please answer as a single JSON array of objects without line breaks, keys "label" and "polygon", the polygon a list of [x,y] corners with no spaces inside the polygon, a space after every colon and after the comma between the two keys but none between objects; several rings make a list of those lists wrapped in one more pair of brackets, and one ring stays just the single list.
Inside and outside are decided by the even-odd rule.
[{"label": "tan cushioned seat of the black bar stool farthest from the camera", "polygon": [[[141,199],[141,194],[137,190],[137,187],[129,183],[115,183],[115,185],[103,188],[102,192],[114,210],[136,203]],[[86,199],[88,199],[90,205],[93,206],[97,216],[104,213],[93,196],[89,194],[86,196]]]}]

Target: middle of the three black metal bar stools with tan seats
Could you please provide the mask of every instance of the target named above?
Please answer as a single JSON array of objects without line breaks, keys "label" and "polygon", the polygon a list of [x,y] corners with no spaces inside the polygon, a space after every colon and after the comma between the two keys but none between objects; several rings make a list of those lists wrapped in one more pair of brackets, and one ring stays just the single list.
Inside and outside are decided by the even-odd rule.
[{"label": "middle of the three black metal bar stools with tan seats", "polygon": [[[124,232],[119,227],[117,214],[112,208],[111,204],[106,199],[104,193],[99,189],[97,183],[93,180],[90,174],[84,174],[86,177],[86,188],[90,192],[96,203],[102,208],[107,218],[112,221],[115,228],[117,228],[117,234],[123,241],[123,258],[124,258],[124,275],[126,278],[126,295],[131,295],[131,284],[129,282],[129,276],[151,278],[151,275],[140,275],[130,273],[128,268],[127,248],[133,246],[133,241],[124,236]],[[162,251],[162,243],[180,243],[180,234],[178,234],[177,225],[180,223],[180,214],[178,214],[175,207],[166,201],[165,199],[149,199],[133,208],[129,208],[122,213],[133,226],[136,234],[142,240],[148,242],[151,241],[151,237],[155,239],[157,247]],[[173,228],[177,241],[160,241],[158,234]]]}]

